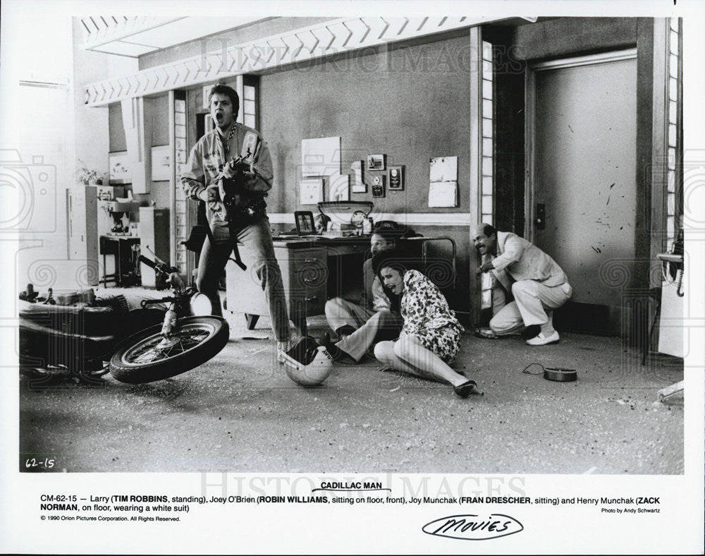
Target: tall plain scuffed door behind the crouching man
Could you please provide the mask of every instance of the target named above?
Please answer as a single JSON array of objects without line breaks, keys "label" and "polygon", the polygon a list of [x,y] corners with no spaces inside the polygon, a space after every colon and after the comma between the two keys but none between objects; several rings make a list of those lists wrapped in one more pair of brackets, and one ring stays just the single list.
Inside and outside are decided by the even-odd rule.
[{"label": "tall plain scuffed door behind the crouching man", "polygon": [[534,237],[568,274],[573,328],[621,328],[634,270],[636,66],[534,70]]}]

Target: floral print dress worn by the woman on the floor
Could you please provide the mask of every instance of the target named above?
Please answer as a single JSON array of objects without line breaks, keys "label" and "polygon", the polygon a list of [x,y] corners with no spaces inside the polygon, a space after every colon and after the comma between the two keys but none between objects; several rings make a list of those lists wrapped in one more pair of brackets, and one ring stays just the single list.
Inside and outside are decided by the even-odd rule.
[{"label": "floral print dress worn by the woman on the floor", "polygon": [[407,270],[404,274],[400,311],[404,319],[403,334],[417,334],[446,325],[457,327],[460,332],[464,330],[438,286],[418,270]]}]

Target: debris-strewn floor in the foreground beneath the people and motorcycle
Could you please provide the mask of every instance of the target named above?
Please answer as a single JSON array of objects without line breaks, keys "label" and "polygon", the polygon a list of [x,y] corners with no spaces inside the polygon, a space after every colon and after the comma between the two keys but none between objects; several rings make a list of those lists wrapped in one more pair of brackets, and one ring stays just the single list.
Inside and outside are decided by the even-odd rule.
[{"label": "debris-strewn floor in the foreground beneath the people and motorcycle", "polygon": [[[168,380],[20,377],[23,457],[56,457],[52,471],[68,472],[683,473],[682,394],[656,401],[682,380],[682,361],[652,356],[642,368],[618,338],[563,334],[532,348],[466,334],[454,366],[484,395],[460,399],[372,360],[299,387],[274,361],[266,319],[253,332],[242,315],[229,320],[221,353]],[[579,380],[522,374],[529,363],[575,368]]]}]

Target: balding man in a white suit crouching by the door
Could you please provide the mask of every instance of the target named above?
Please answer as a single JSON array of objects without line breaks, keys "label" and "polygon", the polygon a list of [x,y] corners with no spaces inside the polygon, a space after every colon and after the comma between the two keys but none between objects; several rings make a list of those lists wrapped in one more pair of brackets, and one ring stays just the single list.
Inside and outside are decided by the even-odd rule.
[{"label": "balding man in a white suit crouching by the door", "polygon": [[[570,299],[572,288],[558,263],[524,238],[496,231],[489,224],[472,229],[472,241],[481,257],[489,255],[477,270],[492,272],[494,317],[491,330],[478,331],[482,337],[515,334],[525,327],[539,325],[537,337],[527,340],[530,346],[555,344],[560,340],[553,328],[553,309]],[[506,294],[514,301],[506,303]]]}]

